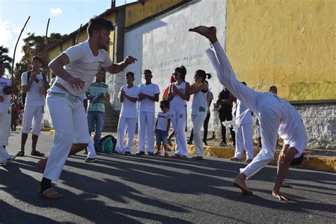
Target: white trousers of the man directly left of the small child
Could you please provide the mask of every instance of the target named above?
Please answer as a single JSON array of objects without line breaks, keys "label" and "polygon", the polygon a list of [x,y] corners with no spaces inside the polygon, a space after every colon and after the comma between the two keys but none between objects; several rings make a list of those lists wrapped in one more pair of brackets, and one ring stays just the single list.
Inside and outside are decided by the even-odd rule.
[{"label": "white trousers of the man directly left of the small child", "polygon": [[[147,137],[147,152],[154,152],[155,113],[139,112],[138,150],[145,152]],[[147,136],[146,136],[147,134]]]}]

